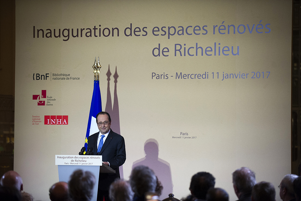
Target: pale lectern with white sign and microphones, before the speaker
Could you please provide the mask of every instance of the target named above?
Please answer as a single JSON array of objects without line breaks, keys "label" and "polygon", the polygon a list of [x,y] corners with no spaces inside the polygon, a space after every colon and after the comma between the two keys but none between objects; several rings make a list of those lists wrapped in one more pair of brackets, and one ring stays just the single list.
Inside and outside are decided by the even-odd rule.
[{"label": "pale lectern with white sign and microphones, before the speaker", "polygon": [[92,201],[97,200],[99,173],[115,173],[116,171],[102,162],[101,155],[55,155],[59,181],[67,182],[70,175],[81,169],[94,174],[96,182],[93,188]]}]

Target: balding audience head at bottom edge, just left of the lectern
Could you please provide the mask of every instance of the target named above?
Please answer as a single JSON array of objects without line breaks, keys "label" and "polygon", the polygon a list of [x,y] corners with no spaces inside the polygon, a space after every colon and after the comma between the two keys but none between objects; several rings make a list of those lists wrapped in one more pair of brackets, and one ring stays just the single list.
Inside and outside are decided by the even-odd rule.
[{"label": "balding audience head at bottom edge, just left of the lectern", "polygon": [[61,181],[53,184],[49,189],[49,198],[51,201],[69,200],[68,183]]}]

